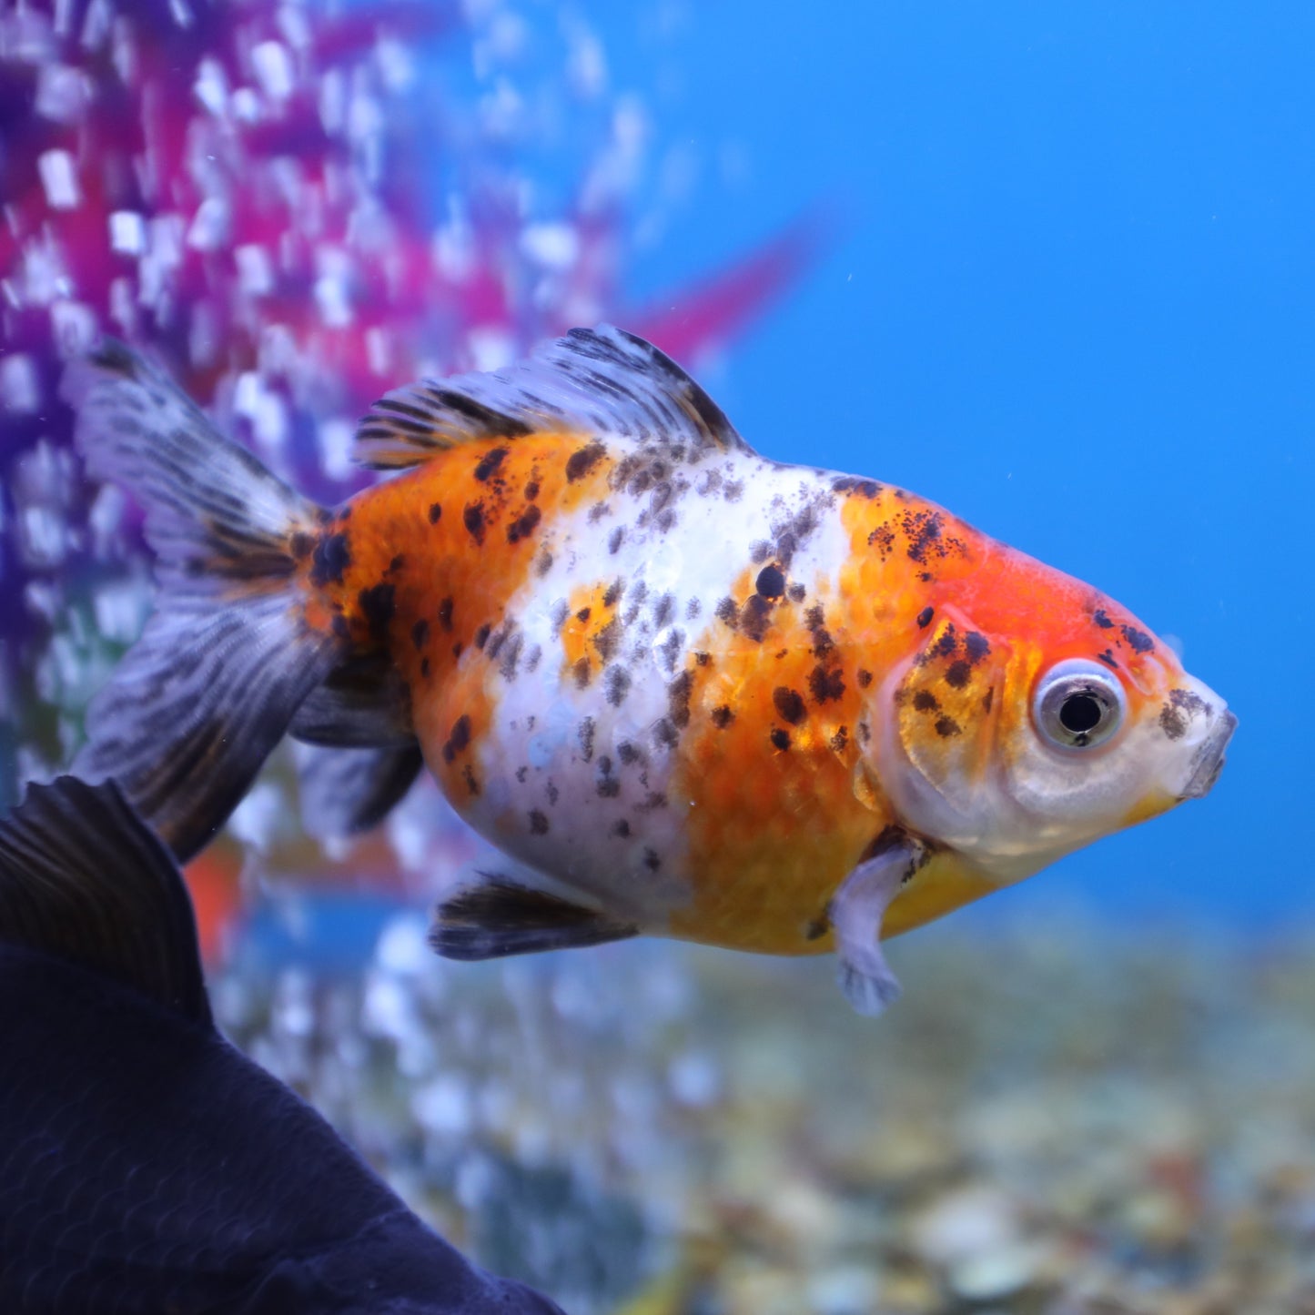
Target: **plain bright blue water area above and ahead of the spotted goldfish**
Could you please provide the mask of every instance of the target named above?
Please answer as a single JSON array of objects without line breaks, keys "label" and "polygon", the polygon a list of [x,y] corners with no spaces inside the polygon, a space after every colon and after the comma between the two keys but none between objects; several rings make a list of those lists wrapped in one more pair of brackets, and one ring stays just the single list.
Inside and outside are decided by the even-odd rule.
[{"label": "plain bright blue water area above and ahead of the spotted goldfish", "polygon": [[625,11],[588,12],[692,178],[636,293],[810,200],[842,218],[702,371],[740,431],[1091,581],[1241,719],[1207,800],[978,917],[1044,881],[1119,918],[1308,918],[1315,8],[722,0],[664,7],[665,42]]}]

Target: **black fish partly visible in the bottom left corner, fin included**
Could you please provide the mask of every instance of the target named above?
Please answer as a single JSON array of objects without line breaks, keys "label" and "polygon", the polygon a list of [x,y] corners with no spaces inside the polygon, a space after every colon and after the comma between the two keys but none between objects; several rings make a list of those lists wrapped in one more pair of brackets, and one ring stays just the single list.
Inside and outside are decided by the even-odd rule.
[{"label": "black fish partly visible in the bottom left corner, fin included", "polygon": [[68,776],[0,822],[0,1311],[560,1315],[220,1035],[174,860]]}]

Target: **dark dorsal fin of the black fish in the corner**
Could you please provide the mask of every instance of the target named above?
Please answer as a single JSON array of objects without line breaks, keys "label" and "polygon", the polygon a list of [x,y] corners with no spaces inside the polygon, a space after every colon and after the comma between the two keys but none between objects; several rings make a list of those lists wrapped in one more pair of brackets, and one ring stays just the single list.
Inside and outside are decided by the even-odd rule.
[{"label": "dark dorsal fin of the black fish in the corner", "polygon": [[183,876],[113,781],[29,785],[0,821],[0,942],[210,1022]]}]

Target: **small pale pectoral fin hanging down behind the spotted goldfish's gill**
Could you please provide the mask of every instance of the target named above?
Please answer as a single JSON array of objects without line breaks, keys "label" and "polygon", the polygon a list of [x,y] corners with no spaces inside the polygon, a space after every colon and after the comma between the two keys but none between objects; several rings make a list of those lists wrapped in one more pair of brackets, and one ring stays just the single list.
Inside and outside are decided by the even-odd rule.
[{"label": "small pale pectoral fin hanging down behind the spotted goldfish's gill", "polygon": [[899,886],[928,855],[922,840],[898,830],[884,832],[874,851],[844,878],[830,907],[840,989],[869,1016],[899,998],[899,982],[881,952],[881,919]]}]

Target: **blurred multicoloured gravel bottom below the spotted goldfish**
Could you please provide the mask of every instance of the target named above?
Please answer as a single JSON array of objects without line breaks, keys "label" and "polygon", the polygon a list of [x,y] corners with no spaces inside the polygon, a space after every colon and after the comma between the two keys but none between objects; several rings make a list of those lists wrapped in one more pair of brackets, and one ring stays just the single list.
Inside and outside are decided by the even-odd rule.
[{"label": "blurred multicoloured gravel bottom below the spotted goldfish", "polygon": [[1315,1312],[1315,953],[952,919],[827,960],[630,943],[231,970],[227,1028],[576,1315]]}]

